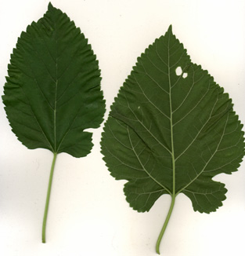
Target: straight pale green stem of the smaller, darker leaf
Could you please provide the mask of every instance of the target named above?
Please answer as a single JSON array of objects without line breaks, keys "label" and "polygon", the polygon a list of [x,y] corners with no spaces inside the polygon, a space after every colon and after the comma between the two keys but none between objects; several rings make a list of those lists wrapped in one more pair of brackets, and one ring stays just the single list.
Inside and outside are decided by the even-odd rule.
[{"label": "straight pale green stem of the smaller, darker leaf", "polygon": [[42,243],[46,243],[46,223],[47,223],[47,217],[48,217],[49,199],[50,199],[50,193],[51,193],[51,187],[52,187],[53,171],[55,169],[55,164],[56,164],[56,157],[57,157],[57,153],[54,153],[50,175],[49,175],[49,186],[48,186],[48,192],[47,192],[46,203],[45,203],[45,214],[43,216],[43,221],[42,221],[42,233],[41,233]]}]

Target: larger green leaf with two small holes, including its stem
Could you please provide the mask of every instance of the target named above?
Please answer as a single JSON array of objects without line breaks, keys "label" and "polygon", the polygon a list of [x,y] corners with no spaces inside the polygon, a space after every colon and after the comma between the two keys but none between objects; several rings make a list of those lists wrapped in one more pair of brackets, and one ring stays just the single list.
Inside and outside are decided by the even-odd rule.
[{"label": "larger green leaf with two small holes, including its stem", "polygon": [[110,174],[125,179],[134,210],[184,193],[193,209],[210,213],[222,206],[225,185],[217,174],[232,174],[244,155],[242,125],[229,95],[168,32],[138,58],[111,106],[101,141]]}]

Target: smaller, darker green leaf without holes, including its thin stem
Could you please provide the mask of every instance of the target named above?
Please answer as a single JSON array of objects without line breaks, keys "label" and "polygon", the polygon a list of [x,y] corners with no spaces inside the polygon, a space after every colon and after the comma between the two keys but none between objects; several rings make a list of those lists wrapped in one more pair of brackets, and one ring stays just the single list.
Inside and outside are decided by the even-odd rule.
[{"label": "smaller, darker green leaf without holes, including its thin stem", "polygon": [[[103,122],[105,101],[98,61],[67,14],[49,3],[18,38],[8,72],[2,99],[18,139],[27,148],[54,153],[51,173],[61,152],[88,155],[92,133],[85,130]],[[51,184],[52,178],[48,195]]]}]

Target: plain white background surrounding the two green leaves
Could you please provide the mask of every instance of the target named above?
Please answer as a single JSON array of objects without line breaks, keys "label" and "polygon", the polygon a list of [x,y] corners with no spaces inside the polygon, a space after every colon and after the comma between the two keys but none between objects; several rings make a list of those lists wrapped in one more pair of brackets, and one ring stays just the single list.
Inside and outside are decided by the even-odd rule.
[{"label": "plain white background surrounding the two green leaves", "polygon": [[[0,3],[0,90],[20,32],[45,13],[49,1]],[[102,70],[106,116],[136,58],[170,24],[196,64],[207,69],[232,97],[245,123],[245,2],[238,0],[53,0],[81,27]],[[57,158],[47,223],[41,222],[52,153],[25,148],[10,130],[0,102],[0,254],[5,256],[150,256],[170,204],[162,196],[139,214],[124,199],[124,181],[115,181],[103,163],[94,131],[92,153],[83,159]],[[228,192],[223,207],[200,214],[178,196],[160,245],[168,256],[245,255],[245,163],[219,175]]]}]

